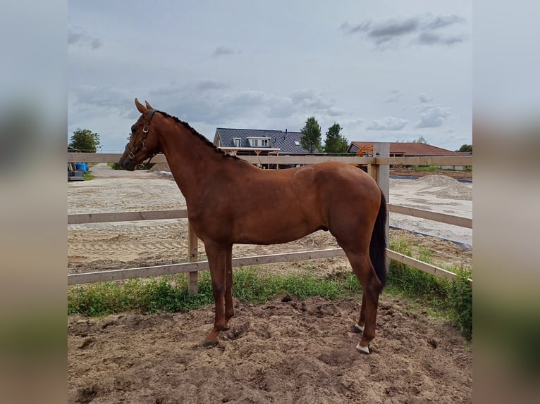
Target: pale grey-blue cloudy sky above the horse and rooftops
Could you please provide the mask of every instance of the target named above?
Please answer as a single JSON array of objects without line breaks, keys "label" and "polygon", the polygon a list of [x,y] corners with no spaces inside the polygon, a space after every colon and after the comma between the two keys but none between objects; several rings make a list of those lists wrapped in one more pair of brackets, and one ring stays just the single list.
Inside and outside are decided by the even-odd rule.
[{"label": "pale grey-blue cloudy sky above the horse and rooftops", "polygon": [[470,1],[68,1],[68,140],[119,153],[134,99],[216,127],[472,144]]}]

